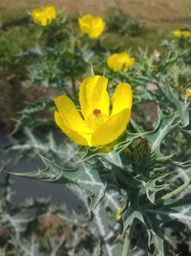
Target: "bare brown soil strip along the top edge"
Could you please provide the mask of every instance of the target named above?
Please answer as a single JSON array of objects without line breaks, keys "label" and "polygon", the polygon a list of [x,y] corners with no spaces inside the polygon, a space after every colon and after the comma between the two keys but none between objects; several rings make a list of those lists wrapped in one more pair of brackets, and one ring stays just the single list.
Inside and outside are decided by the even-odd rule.
[{"label": "bare brown soil strip along the top edge", "polygon": [[[191,11],[190,0],[117,0],[124,12],[139,19],[146,20],[186,20]],[[54,4],[69,13],[94,13],[101,14],[108,7],[114,6],[111,0],[0,0],[0,8],[24,8],[30,10],[46,4]]]}]

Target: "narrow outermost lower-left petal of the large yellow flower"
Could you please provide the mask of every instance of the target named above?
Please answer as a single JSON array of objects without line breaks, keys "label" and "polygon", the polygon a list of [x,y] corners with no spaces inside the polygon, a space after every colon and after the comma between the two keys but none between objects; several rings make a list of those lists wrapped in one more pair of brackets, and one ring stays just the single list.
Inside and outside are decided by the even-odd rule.
[{"label": "narrow outermost lower-left petal of the large yellow flower", "polygon": [[56,125],[76,144],[88,145],[87,140],[81,134],[65,126],[62,116],[57,111],[54,111],[54,119]]}]

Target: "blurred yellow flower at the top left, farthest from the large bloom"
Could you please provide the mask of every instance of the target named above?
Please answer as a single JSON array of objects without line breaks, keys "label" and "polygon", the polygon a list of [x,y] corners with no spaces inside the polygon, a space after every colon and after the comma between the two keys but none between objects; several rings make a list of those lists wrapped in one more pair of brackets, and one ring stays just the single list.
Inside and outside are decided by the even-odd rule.
[{"label": "blurred yellow flower at the top left, farthest from the large bloom", "polygon": [[42,9],[34,9],[32,11],[32,18],[34,22],[46,27],[56,18],[55,8],[54,6],[47,6]]}]

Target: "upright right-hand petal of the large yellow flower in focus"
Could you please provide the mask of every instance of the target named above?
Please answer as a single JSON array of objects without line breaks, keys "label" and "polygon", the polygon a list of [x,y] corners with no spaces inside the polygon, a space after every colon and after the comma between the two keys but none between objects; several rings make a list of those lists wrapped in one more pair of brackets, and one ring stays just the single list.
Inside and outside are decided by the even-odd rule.
[{"label": "upright right-hand petal of the large yellow flower in focus", "polygon": [[124,108],[131,109],[132,97],[131,85],[127,82],[119,83],[113,96],[112,115],[116,115]]}]

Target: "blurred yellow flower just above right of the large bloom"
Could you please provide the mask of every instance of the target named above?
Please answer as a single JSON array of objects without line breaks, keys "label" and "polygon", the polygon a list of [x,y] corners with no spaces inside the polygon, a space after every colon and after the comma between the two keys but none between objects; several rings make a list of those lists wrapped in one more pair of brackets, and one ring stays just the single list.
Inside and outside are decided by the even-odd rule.
[{"label": "blurred yellow flower just above right of the large bloom", "polygon": [[135,62],[135,58],[129,56],[126,52],[113,54],[107,58],[107,64],[115,72],[127,72]]}]

